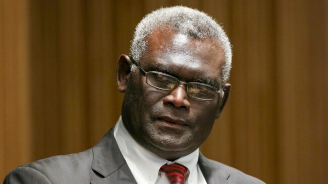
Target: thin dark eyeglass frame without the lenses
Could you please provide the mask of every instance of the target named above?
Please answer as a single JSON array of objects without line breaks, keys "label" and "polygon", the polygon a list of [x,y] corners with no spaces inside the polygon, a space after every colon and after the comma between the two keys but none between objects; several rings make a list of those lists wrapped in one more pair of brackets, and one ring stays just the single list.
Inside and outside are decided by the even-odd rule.
[{"label": "thin dark eyeglass frame without the lenses", "polygon": [[[148,85],[152,86],[152,87],[155,87],[156,89],[161,89],[161,90],[174,90],[174,89],[178,86],[179,83],[183,83],[183,84],[185,84],[185,85],[187,86],[186,93],[187,93],[188,96],[190,96],[190,97],[192,97],[192,98],[195,98],[195,99],[198,99],[198,100],[203,100],[203,101],[212,101],[212,100],[215,99],[215,97],[217,96],[217,94],[220,94],[221,92],[224,93],[223,88],[220,88],[220,90],[217,90],[216,87],[214,87],[214,86],[212,86],[212,85],[209,85],[209,84],[206,84],[206,83],[200,83],[200,82],[183,82],[183,81],[180,81],[177,77],[174,77],[174,76],[169,75],[169,74],[167,74],[167,73],[163,73],[163,72],[159,72],[159,71],[148,71],[148,72],[146,72],[146,71],[145,71],[144,69],[142,69],[141,66],[140,66],[138,63],[136,63],[136,62],[133,62],[132,64],[134,64],[135,66],[137,66],[137,67],[139,68],[139,71],[142,73],[142,75],[144,75],[144,76],[146,77],[146,83],[147,83]],[[159,88],[159,87],[153,86],[153,85],[151,85],[151,84],[148,83],[148,73],[149,73],[149,72],[152,72],[152,73],[159,73],[159,74],[163,74],[163,75],[167,75],[167,76],[169,76],[169,77],[175,78],[175,79],[177,80],[177,83],[176,83],[176,85],[175,85],[172,89],[163,89],[163,88]],[[188,93],[188,84],[189,84],[189,83],[196,83],[196,84],[201,84],[201,85],[208,86],[208,87],[210,87],[210,88],[213,88],[213,89],[215,90],[216,93],[215,93],[215,95],[214,95],[214,97],[213,97],[212,99],[201,99],[201,98],[194,97],[194,96],[192,96],[192,95],[189,95],[189,93]]]}]

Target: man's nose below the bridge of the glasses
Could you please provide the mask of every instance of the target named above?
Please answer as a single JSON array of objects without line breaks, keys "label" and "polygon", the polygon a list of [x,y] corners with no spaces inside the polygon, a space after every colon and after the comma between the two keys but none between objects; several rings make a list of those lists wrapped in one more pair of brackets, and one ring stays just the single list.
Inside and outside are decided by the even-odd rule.
[{"label": "man's nose below the bridge of the glasses", "polygon": [[164,103],[172,105],[178,109],[190,109],[188,101],[187,86],[180,83],[174,88],[171,93],[165,97]]}]

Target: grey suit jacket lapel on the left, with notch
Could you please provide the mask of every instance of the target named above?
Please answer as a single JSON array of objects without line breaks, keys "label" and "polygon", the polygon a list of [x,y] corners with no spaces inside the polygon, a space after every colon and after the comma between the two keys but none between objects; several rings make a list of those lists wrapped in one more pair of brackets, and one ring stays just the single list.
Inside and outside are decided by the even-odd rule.
[{"label": "grey suit jacket lapel on the left, with notch", "polygon": [[114,128],[93,147],[91,183],[137,183],[114,137]]}]

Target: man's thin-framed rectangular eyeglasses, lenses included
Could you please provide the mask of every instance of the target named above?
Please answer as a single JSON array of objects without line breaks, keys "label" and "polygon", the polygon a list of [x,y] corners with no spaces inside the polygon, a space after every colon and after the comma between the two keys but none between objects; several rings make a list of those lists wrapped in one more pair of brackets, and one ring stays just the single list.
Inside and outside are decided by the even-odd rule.
[{"label": "man's thin-framed rectangular eyeglasses, lenses included", "polygon": [[221,93],[223,90],[217,90],[215,87],[199,83],[199,82],[183,82],[177,79],[174,76],[171,76],[166,73],[157,72],[157,71],[149,71],[146,72],[140,66],[137,65],[139,71],[142,75],[146,76],[147,84],[162,90],[173,90],[177,87],[178,83],[183,83],[187,85],[187,95],[193,98],[211,101],[213,100],[217,94]]}]

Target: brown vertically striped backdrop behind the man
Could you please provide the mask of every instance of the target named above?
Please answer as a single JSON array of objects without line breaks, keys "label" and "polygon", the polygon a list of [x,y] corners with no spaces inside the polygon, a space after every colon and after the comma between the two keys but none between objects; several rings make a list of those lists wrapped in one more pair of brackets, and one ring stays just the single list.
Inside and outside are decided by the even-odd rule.
[{"label": "brown vertically striped backdrop behind the man", "polygon": [[0,0],[0,180],[115,124],[117,59],[141,18],[171,5],[207,12],[233,44],[231,98],[203,153],[267,183],[328,181],[325,0]]}]

